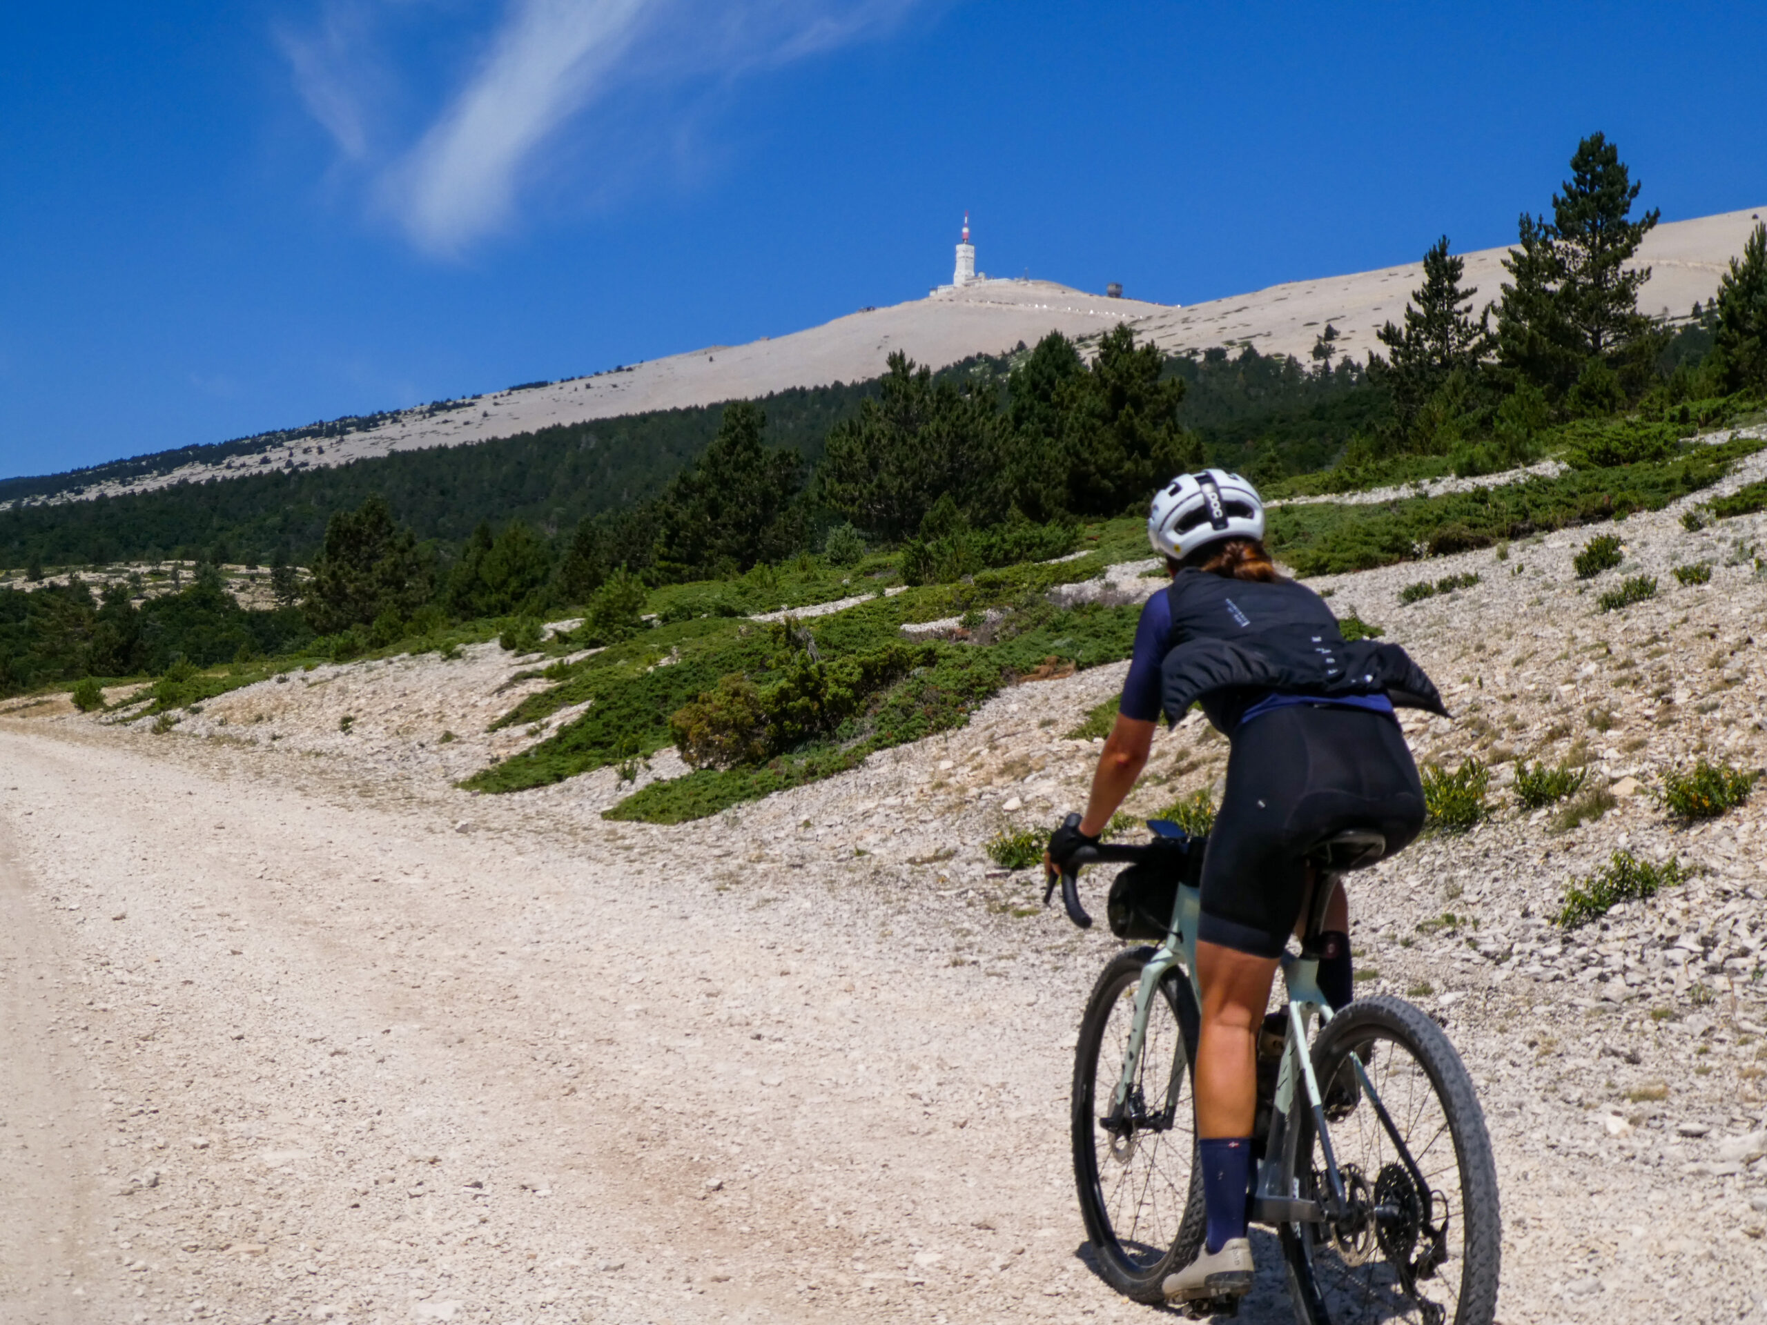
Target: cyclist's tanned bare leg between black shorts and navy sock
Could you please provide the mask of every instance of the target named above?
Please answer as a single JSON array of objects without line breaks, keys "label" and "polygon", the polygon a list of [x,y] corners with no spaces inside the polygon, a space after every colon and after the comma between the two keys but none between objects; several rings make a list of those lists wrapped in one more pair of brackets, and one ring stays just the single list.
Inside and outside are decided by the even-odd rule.
[{"label": "cyclist's tanned bare leg between black shorts and navy sock", "polygon": [[1203,989],[1196,1134],[1251,1136],[1258,1104],[1255,1032],[1270,1000],[1276,961],[1200,942],[1196,977]]}]

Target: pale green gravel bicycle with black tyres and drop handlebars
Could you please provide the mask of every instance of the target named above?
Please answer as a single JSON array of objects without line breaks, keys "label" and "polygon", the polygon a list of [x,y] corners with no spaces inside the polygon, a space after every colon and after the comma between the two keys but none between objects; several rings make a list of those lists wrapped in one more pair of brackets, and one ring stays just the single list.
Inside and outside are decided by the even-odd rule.
[{"label": "pale green gravel bicycle with black tyres and drop handlebars", "polygon": [[[1138,1302],[1163,1302],[1163,1281],[1189,1265],[1205,1233],[1191,1076],[1207,839],[1164,820],[1149,827],[1149,843],[1076,852],[1067,871],[1048,874],[1043,899],[1060,882],[1069,919],[1087,929],[1080,866],[1127,862],[1111,885],[1111,931],[1157,940],[1119,952],[1092,988],[1074,1053],[1073,1143],[1099,1272]],[[1334,1014],[1316,982],[1332,892],[1384,853],[1385,839],[1364,830],[1308,853],[1301,952],[1283,956],[1283,1005],[1258,1035],[1249,1215],[1278,1233],[1302,1325],[1490,1325],[1497,1164],[1467,1067],[1421,1009],[1375,996]],[[1233,1314],[1239,1300],[1173,1306],[1202,1318]]]}]

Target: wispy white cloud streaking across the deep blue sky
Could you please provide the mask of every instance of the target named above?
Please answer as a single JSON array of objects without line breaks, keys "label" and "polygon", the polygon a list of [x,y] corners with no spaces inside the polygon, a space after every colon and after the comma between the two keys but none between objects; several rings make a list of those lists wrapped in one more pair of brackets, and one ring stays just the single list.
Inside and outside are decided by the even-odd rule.
[{"label": "wispy white cloud streaking across the deep blue sky", "polygon": [[[629,143],[615,140],[633,127],[620,124],[622,101],[668,117],[659,94],[728,85],[864,41],[924,0],[507,0],[440,110],[406,147],[378,157],[376,125],[355,92],[373,58],[364,18],[373,0],[330,2],[316,34],[283,37],[295,88],[339,152],[371,171],[378,207],[412,242],[458,254],[509,226],[548,168],[594,170],[620,155]],[[664,143],[671,125],[648,129]]]}]

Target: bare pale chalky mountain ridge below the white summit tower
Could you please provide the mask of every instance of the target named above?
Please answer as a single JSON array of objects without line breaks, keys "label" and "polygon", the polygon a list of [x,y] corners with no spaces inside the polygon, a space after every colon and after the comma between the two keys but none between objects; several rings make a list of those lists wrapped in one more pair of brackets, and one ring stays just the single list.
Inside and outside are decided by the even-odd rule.
[{"label": "bare pale chalky mountain ridge below the white summit tower", "polygon": [[[1659,224],[1645,237],[1636,258],[1652,272],[1640,307],[1684,318],[1695,300],[1709,300],[1760,214],[1762,208],[1753,208]],[[1481,300],[1497,299],[1505,253],[1481,249],[1465,254],[1465,281],[1477,286]],[[1366,359],[1369,350],[1378,348],[1375,332],[1387,322],[1403,322],[1405,302],[1421,274],[1421,263],[1403,263],[1290,281],[1182,307],[1108,299],[1053,281],[977,281],[942,288],[926,299],[852,313],[790,336],[707,346],[567,382],[463,398],[449,401],[447,408],[394,412],[345,436],[284,440],[267,435],[262,449],[235,449],[224,459],[189,459],[127,479],[94,479],[76,472],[67,475],[62,493],[23,500],[88,500],[177,482],[246,477],[265,468],[346,465],[396,450],[486,442],[553,424],[717,405],[790,387],[864,382],[882,375],[884,360],[896,350],[919,364],[944,367],[977,353],[1009,352],[1020,341],[1034,344],[1051,330],[1090,339],[1119,322],[1127,322],[1140,337],[1172,353],[1253,344],[1260,353],[1295,355],[1302,362],[1308,362],[1315,337],[1331,323],[1339,332],[1338,350]],[[0,509],[7,505],[12,504],[0,504]]]}]

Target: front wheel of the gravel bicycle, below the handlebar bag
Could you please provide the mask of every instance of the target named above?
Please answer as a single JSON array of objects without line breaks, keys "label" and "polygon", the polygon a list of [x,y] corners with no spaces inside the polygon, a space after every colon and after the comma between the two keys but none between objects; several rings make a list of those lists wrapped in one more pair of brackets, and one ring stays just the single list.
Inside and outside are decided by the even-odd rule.
[{"label": "front wheel of the gravel bicycle, below the handlebar bag", "polygon": [[1159,982],[1134,1086],[1111,1108],[1122,1076],[1134,993],[1154,949],[1119,952],[1092,986],[1074,1053],[1074,1182],[1104,1279],[1136,1302],[1163,1302],[1161,1284],[1202,1246],[1202,1171],[1191,1071],[1196,998],[1173,966]]}]

